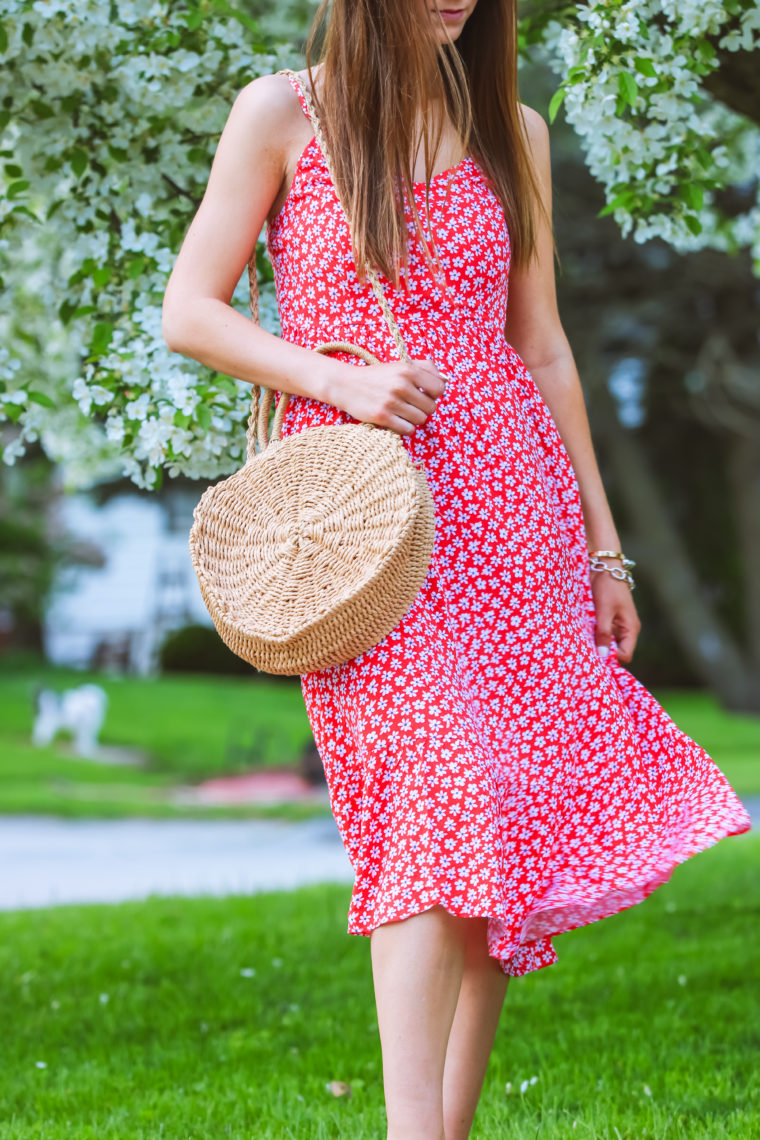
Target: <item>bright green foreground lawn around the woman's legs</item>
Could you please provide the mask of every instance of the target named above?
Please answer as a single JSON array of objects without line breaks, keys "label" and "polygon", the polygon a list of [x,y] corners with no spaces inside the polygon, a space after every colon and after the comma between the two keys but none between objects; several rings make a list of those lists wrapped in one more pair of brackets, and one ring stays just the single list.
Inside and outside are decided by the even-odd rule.
[{"label": "bright green foreground lawn around the woman's legs", "polygon": [[[759,856],[726,840],[513,980],[474,1140],[759,1137]],[[382,1140],[346,906],[321,887],[0,914],[0,1140]]]}]

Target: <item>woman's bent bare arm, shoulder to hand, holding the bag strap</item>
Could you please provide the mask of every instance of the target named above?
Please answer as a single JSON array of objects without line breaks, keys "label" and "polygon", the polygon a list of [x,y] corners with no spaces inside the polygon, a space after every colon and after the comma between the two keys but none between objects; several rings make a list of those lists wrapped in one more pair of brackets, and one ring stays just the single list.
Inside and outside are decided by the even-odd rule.
[{"label": "woman's bent bare arm, shoulder to hand, holding the bag strap", "polygon": [[230,304],[264,220],[281,199],[304,123],[285,76],[255,80],[236,99],[169,280],[164,339],[173,351],[218,372],[333,404],[357,420],[408,434],[427,420],[443,391],[430,361],[378,365],[369,378],[368,369],[272,336]]}]

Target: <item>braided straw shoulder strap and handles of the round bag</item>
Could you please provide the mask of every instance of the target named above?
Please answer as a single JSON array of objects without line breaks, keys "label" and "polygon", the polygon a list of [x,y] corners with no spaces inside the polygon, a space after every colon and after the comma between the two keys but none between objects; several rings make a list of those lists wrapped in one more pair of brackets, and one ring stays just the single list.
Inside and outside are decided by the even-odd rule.
[{"label": "braided straw shoulder strap and handles of the round bag", "polygon": [[[303,96],[303,101],[307,105],[307,111],[309,112],[309,120],[314,131],[314,138],[317,139],[317,145],[322,153],[325,158],[325,165],[327,166],[327,172],[333,181],[335,188],[335,194],[337,195],[338,202],[341,203],[341,209],[345,215],[346,221],[349,221],[349,214],[345,209],[335,181],[335,173],[333,171],[333,163],[329,157],[329,152],[327,149],[327,142],[325,140],[325,135],[322,132],[321,123],[319,122],[319,116],[314,109],[314,105],[311,98],[311,91],[309,91],[304,84],[302,84],[295,72],[289,68],[285,68],[278,74],[288,75],[297,91]],[[393,343],[399,353],[399,358],[406,364],[409,364],[411,357],[409,356],[409,350],[403,342],[401,336],[401,331],[397,324],[395,317],[391,311],[391,307],[387,303],[387,298],[383,291],[383,285],[377,271],[367,262],[365,264],[365,272],[373,287],[373,292],[377,298],[379,307],[385,317],[385,321],[390,329],[391,336],[393,337]],[[259,284],[256,278],[256,250],[254,246],[253,253],[248,260],[248,296],[251,302],[251,317],[254,323],[260,324],[259,320]],[[314,350],[316,352],[351,352],[353,356],[359,357],[365,360],[366,364],[379,364],[377,357],[374,357],[366,349],[359,348],[357,344],[349,344],[344,341],[333,341],[328,344],[320,344]],[[283,421],[285,420],[285,412],[287,409],[288,393],[281,392],[280,398],[277,401],[277,408],[275,410],[275,418],[272,421],[271,435],[269,435],[269,413],[272,406],[275,392],[271,388],[264,388],[260,384],[252,385],[252,400],[251,400],[251,414],[248,416],[248,426],[246,430],[247,439],[247,458],[251,459],[256,451],[256,441],[259,443],[259,450],[263,451],[270,439],[278,440],[283,434]]]}]

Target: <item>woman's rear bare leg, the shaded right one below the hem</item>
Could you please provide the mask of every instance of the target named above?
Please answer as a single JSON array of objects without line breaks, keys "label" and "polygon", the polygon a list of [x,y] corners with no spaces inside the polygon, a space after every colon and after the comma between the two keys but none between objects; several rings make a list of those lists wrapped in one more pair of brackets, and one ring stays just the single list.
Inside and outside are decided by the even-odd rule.
[{"label": "woman's rear bare leg, the shaded right one below the hem", "polygon": [[490,958],[485,920],[471,919],[465,972],[443,1074],[446,1140],[467,1140],[507,992],[507,975]]}]

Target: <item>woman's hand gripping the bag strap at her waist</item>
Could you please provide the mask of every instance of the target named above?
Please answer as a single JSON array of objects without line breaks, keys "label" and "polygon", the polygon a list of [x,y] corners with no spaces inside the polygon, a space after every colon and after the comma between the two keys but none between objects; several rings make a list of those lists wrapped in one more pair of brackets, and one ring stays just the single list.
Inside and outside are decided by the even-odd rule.
[{"label": "woman's hand gripping the bag strap at her waist", "polygon": [[328,400],[361,423],[410,435],[435,412],[446,378],[432,360],[392,360],[366,367],[330,360]]}]

